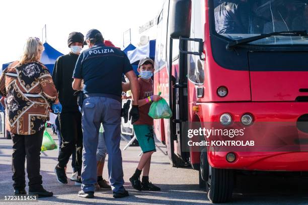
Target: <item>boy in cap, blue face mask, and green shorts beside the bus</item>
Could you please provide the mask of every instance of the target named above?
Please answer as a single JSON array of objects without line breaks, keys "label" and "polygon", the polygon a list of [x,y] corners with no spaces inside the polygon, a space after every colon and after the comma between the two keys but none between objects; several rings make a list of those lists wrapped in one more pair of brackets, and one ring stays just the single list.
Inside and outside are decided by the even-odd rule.
[{"label": "boy in cap, blue face mask, and green shorts beside the bus", "polygon": [[[133,123],[134,133],[137,137],[140,148],[143,152],[137,169],[133,176],[129,179],[134,189],[139,191],[159,191],[161,190],[156,185],[153,185],[148,180],[149,168],[151,163],[151,155],[156,152],[155,142],[153,137],[153,119],[148,116],[150,104],[153,101],[161,99],[159,95],[153,95],[153,81],[151,79],[154,72],[154,62],[150,58],[140,60],[138,65],[139,84],[139,115],[137,122]],[[142,173],[142,181],[140,175]]]}]

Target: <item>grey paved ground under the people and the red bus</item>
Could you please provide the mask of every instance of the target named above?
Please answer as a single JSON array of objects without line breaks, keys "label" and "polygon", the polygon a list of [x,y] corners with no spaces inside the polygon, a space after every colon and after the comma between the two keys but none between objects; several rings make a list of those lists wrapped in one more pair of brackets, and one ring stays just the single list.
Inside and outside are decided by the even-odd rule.
[{"label": "grey paved ground under the people and the red bus", "polygon": [[[56,139],[55,136],[53,136]],[[123,148],[125,142],[121,143]],[[162,148],[164,147],[161,145]],[[198,172],[192,169],[172,168],[167,156],[156,152],[152,156],[150,180],[162,188],[160,192],[139,192],[130,186],[128,178],[134,172],[139,157],[138,147],[129,147],[122,151],[125,188],[130,196],[114,199],[111,191],[95,193],[94,199],[84,199],[76,194],[80,187],[71,181],[60,185],[53,172],[57,163],[57,150],[41,154],[41,174],[43,185],[53,191],[54,197],[39,199],[35,204],[207,204],[210,203],[204,190],[198,186]],[[0,137],[0,201],[5,195],[11,195],[12,141]],[[69,166],[68,166],[69,167]],[[68,176],[71,168],[67,170]],[[104,170],[107,178],[107,170]],[[1,202],[0,202],[1,203]],[[4,203],[4,202],[3,202]],[[22,202],[19,202],[22,203]],[[29,204],[23,202],[22,204]],[[5,203],[9,204],[9,203]],[[15,203],[12,203],[15,204]],[[239,176],[233,202],[228,204],[308,204],[308,179],[299,177]]]}]

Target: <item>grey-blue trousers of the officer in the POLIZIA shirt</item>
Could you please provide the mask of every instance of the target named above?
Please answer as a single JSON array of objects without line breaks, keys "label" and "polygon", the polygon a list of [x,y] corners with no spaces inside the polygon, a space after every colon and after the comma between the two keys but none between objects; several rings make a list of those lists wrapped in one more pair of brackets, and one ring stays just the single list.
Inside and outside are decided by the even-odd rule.
[{"label": "grey-blue trousers of the officer in the POLIZIA shirt", "polygon": [[103,123],[108,151],[109,181],[114,192],[124,192],[121,140],[121,103],[109,97],[88,97],[83,104],[84,134],[82,190],[94,191],[97,182],[97,147],[100,124]]}]

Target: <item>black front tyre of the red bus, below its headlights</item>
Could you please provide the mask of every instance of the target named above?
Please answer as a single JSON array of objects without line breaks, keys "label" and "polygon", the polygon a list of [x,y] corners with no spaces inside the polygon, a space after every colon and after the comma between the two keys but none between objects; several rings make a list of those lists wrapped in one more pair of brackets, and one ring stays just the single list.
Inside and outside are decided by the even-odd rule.
[{"label": "black front tyre of the red bus, below its headlights", "polygon": [[208,166],[207,197],[213,203],[230,201],[233,193],[234,171],[230,169],[216,169]]}]

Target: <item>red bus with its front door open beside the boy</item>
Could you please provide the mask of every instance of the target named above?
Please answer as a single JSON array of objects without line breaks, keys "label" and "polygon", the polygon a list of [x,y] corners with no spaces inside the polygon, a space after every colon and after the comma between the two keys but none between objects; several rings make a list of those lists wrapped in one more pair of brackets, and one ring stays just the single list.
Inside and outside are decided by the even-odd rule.
[{"label": "red bus with its front door open beside the boy", "polygon": [[[154,92],[162,92],[174,116],[155,120],[155,134],[166,144],[173,166],[199,170],[200,186],[212,202],[232,198],[241,170],[308,171],[307,149],[282,146],[307,144],[308,126],[302,124],[308,120],[307,29],[306,0],[164,3]],[[278,143],[282,149],[260,151],[186,150],[185,122],[189,129],[205,123],[227,130],[264,128],[245,137],[266,139],[263,145],[284,142]]]}]

